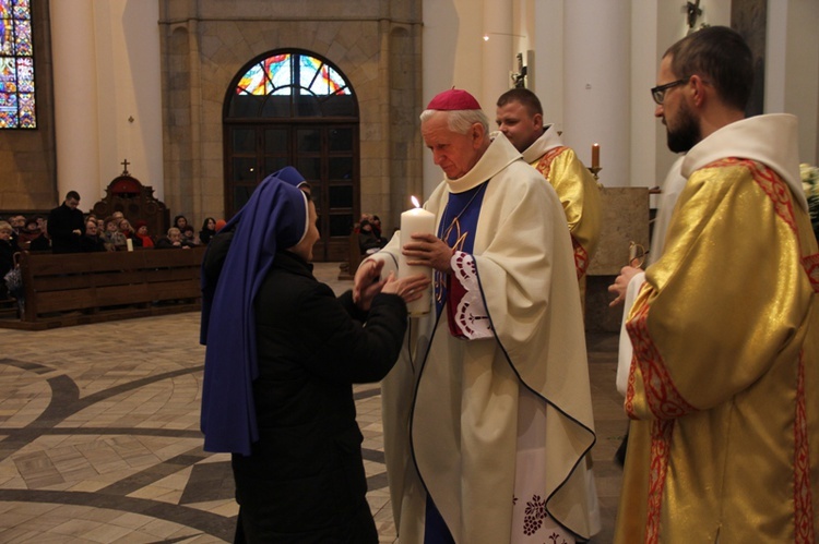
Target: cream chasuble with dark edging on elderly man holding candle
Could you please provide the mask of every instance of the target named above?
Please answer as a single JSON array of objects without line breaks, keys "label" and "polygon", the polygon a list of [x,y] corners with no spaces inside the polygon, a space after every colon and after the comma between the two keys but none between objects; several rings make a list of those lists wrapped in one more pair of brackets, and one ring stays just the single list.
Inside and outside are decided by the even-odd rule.
[{"label": "cream chasuble with dark edging on elderly man holding candle", "polygon": [[[495,336],[453,337],[447,313],[412,319],[382,384],[384,452],[402,544],[422,543],[427,489],[459,543],[511,542],[519,400],[546,414],[541,482],[548,513],[590,534],[583,456],[594,444],[571,241],[554,190],[496,137],[477,165],[425,204],[438,221],[450,192],[489,180],[473,257]],[[399,235],[370,258],[395,268]],[[525,384],[525,385],[524,385]],[[521,528],[522,531],[522,528]]]}]

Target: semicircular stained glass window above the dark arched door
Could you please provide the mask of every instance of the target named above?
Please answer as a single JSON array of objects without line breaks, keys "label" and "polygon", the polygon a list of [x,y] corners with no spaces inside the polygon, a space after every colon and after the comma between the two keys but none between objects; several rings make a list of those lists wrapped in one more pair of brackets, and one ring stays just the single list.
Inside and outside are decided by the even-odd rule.
[{"label": "semicircular stained glass window above the dark arched door", "polygon": [[277,51],[254,61],[236,82],[230,118],[351,117],[355,100],[344,76],[327,61]]}]

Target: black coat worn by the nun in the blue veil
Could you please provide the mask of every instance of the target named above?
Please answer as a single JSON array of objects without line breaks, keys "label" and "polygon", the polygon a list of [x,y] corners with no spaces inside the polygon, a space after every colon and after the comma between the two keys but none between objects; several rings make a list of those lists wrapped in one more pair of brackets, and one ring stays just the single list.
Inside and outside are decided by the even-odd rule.
[{"label": "black coat worn by the nun in the blue veil", "polygon": [[[367,327],[354,317],[366,317]],[[256,319],[260,439],[251,456],[233,456],[244,536],[377,543],[352,384],[380,380],[392,368],[406,304],[379,294],[361,314],[351,292],[336,299],[310,265],[280,252],[257,295]]]}]

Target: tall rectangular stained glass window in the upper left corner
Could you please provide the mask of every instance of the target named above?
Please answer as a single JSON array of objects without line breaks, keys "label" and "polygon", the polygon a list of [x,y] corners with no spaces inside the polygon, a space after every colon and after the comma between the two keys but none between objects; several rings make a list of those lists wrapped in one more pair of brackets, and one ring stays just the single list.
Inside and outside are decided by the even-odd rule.
[{"label": "tall rectangular stained glass window in the upper left corner", "polygon": [[0,0],[0,129],[36,129],[31,0]]}]

